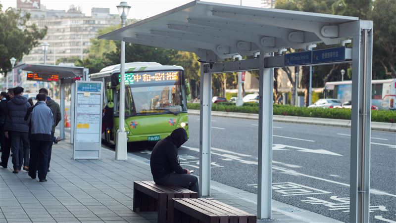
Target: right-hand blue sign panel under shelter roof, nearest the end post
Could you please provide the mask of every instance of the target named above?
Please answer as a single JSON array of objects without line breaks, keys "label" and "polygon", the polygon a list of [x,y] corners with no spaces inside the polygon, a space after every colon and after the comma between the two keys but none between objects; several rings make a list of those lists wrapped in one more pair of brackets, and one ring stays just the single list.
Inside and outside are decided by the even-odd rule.
[{"label": "right-hand blue sign panel under shelter roof, nearest the end post", "polygon": [[312,51],[312,63],[327,63],[345,60],[345,47],[319,49]]}]

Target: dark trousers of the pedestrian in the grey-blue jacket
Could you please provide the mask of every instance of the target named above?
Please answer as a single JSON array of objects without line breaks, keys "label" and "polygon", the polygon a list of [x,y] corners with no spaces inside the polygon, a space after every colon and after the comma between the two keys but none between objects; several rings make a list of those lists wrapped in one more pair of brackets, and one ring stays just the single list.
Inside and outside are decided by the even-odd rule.
[{"label": "dark trousers of the pedestrian in the grey-blue jacket", "polygon": [[51,141],[30,140],[30,166],[29,176],[36,178],[36,168],[39,179],[46,179],[48,171],[48,150]]}]

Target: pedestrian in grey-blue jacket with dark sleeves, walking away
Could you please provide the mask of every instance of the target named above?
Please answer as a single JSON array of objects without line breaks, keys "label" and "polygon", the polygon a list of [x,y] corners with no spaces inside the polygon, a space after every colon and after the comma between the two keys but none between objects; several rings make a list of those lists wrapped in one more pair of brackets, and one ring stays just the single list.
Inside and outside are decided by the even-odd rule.
[{"label": "pedestrian in grey-blue jacket with dark sleeves, walking away", "polygon": [[29,122],[30,139],[30,168],[29,176],[36,178],[36,169],[40,182],[47,181],[49,145],[52,144],[51,129],[53,126],[53,115],[46,104],[46,95],[39,93],[36,96],[37,103],[30,107],[24,119]]}]

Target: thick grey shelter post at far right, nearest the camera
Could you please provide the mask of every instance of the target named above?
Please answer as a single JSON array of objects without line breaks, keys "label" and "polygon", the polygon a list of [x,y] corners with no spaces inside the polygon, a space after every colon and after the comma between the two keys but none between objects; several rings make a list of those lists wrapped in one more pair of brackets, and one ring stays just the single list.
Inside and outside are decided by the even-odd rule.
[{"label": "thick grey shelter post at far right, nearest the camera", "polygon": [[[353,36],[349,222],[369,222],[372,22]],[[362,24],[364,24],[362,26]],[[367,24],[369,24],[367,26]]]}]

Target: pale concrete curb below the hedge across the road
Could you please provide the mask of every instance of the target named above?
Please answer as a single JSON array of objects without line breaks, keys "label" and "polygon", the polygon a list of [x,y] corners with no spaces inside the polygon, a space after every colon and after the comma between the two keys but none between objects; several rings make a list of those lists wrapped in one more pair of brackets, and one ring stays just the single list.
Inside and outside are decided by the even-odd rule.
[{"label": "pale concrete curb below the hedge across the road", "polygon": [[[188,113],[192,115],[199,115],[199,110],[189,109]],[[239,112],[212,111],[212,116],[258,120],[258,114],[239,113]],[[274,115],[274,121],[319,125],[319,126],[344,127],[344,128],[350,128],[351,125],[350,120],[344,120],[344,119],[325,119],[325,118],[310,118],[310,117],[284,116],[284,115]],[[377,131],[385,131],[385,132],[396,132],[396,123],[371,122],[371,129]]]}]

